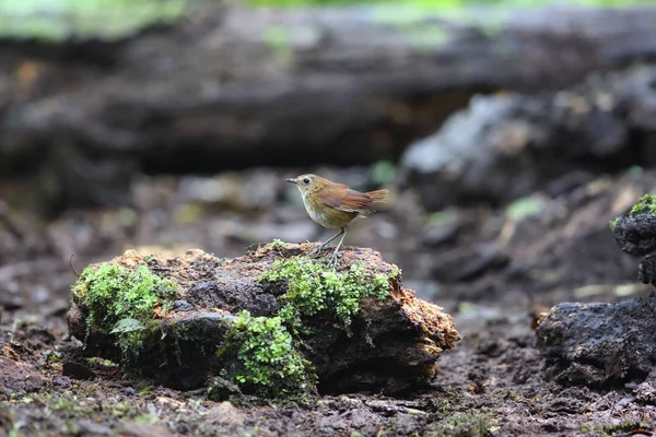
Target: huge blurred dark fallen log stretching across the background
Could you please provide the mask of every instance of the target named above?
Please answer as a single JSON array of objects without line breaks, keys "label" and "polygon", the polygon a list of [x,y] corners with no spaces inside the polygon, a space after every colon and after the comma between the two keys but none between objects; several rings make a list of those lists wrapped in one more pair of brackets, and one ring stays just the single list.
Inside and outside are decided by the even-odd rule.
[{"label": "huge blurred dark fallen log stretching across the background", "polygon": [[5,39],[0,176],[42,168],[57,209],[125,203],[138,172],[396,158],[476,92],[653,58],[655,23],[653,8],[221,7],[101,50]]}]

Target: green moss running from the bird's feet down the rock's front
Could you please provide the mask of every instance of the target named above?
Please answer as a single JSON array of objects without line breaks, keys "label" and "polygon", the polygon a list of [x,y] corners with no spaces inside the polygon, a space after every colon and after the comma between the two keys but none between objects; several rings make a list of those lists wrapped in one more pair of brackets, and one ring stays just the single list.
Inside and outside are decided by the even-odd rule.
[{"label": "green moss running from the bird's feet down the rock's front", "polygon": [[[229,334],[237,344],[243,371],[235,376],[242,386],[256,386],[269,393],[307,391],[316,375],[294,349],[292,333],[307,332],[307,320],[316,316],[337,319],[349,328],[363,298],[387,298],[389,280],[400,274],[368,274],[361,262],[336,272],[324,262],[306,257],[277,260],[259,276],[263,283],[284,282],[284,304],[277,317],[251,317],[242,311]],[[291,329],[292,332],[290,332]],[[220,350],[224,353],[225,347]]]}]

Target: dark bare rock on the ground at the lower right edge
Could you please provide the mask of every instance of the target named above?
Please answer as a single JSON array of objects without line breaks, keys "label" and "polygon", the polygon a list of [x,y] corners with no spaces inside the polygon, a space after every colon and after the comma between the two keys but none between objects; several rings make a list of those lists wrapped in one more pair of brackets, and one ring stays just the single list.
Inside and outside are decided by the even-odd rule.
[{"label": "dark bare rock on the ground at the lower right edge", "polygon": [[560,304],[536,330],[546,375],[609,388],[643,381],[656,365],[656,294],[618,304]]}]

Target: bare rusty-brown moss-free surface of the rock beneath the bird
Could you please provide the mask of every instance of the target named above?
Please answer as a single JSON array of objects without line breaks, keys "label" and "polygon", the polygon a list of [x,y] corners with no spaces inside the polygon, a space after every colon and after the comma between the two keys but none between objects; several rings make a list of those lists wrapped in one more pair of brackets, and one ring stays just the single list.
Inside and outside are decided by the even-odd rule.
[{"label": "bare rusty-brown moss-free surface of the rock beneath the bird", "polygon": [[[201,250],[177,257],[129,250],[115,258],[112,263],[127,269],[148,265],[178,287],[172,309],[154,311],[159,328],[142,342],[139,358],[130,366],[177,388],[199,387],[213,375],[224,376],[222,370],[233,364],[218,351],[237,312],[245,309],[254,317],[276,317],[289,303],[285,281],[262,281],[261,274],[273,269],[277,260],[305,259],[315,248],[315,244],[270,244],[232,260]],[[398,268],[384,262],[379,252],[345,248],[336,271],[354,263],[362,264],[367,279],[387,276],[389,288],[383,299],[362,298],[348,327],[331,317],[331,308],[303,319],[308,330],[300,330],[294,344],[312,363],[318,390],[398,392],[427,383],[442,352],[460,339],[452,316],[403,288]],[[326,272],[331,272],[328,267]],[[73,304],[68,317],[72,333],[86,332],[86,316],[83,303]],[[92,330],[86,350],[101,356],[119,355],[107,332]]]}]

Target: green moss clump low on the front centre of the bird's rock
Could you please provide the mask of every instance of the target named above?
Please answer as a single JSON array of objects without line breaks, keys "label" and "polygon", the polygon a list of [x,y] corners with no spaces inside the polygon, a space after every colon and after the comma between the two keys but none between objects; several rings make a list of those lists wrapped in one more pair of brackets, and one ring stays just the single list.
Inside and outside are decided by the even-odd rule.
[{"label": "green moss clump low on the front centre of the bird's rock", "polygon": [[237,358],[243,364],[235,376],[239,385],[276,395],[314,387],[309,363],[294,349],[280,317],[251,317],[243,310],[226,341],[237,345]]}]

